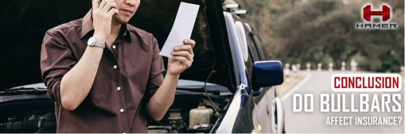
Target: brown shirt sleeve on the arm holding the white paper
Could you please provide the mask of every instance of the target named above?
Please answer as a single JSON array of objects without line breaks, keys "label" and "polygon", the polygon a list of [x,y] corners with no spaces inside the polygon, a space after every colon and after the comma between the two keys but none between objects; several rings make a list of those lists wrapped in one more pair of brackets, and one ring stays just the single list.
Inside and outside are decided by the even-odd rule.
[{"label": "brown shirt sleeve on the arm holding the white paper", "polygon": [[159,45],[157,44],[156,38],[152,37],[152,50],[153,59],[150,66],[149,78],[146,84],[145,100],[144,103],[147,104],[153,94],[157,91],[157,88],[163,82],[163,74],[165,73],[165,66],[163,63],[163,58],[159,55]]}]

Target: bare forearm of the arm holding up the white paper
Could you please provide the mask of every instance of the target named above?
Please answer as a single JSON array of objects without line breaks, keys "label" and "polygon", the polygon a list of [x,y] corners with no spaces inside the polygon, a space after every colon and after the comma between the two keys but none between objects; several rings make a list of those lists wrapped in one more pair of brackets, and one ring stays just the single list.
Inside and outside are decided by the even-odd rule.
[{"label": "bare forearm of the arm holding up the white paper", "polygon": [[179,75],[167,73],[156,93],[147,104],[147,111],[152,119],[160,120],[173,104]]}]

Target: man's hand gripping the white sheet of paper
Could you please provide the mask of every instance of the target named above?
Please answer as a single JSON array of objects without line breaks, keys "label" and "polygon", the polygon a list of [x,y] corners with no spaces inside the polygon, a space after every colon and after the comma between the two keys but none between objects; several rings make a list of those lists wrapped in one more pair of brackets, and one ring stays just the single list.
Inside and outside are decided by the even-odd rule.
[{"label": "man's hand gripping the white sheet of paper", "polygon": [[194,59],[193,48],[195,41],[192,39],[185,39],[184,44],[174,47],[172,51],[173,59],[169,58],[168,73],[172,75],[179,75],[181,72],[191,66]]}]

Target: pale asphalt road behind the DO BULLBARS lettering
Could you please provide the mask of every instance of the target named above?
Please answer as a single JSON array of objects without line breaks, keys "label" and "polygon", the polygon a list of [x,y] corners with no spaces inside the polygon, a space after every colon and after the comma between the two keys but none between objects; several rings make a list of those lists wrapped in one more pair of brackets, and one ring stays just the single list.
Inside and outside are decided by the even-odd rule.
[{"label": "pale asphalt road behind the DO BULLBARS lettering", "polygon": [[[350,71],[311,71],[309,76],[293,88],[294,91],[282,97],[285,109],[285,130],[287,133],[404,133],[404,90],[399,92],[385,92],[384,94],[401,94],[401,112],[320,112],[320,94],[338,94],[331,89],[331,76],[335,73],[354,73]],[[367,73],[367,72],[355,72]],[[402,80],[403,82],[403,80]],[[354,106],[359,106],[358,94],[369,94],[369,100],[377,93],[381,103],[381,92],[339,92],[346,94],[346,106],[350,108],[350,94],[354,94]],[[293,112],[293,94],[313,94],[313,112]],[[356,105],[357,104],[357,105]],[[369,103],[371,105],[371,103]],[[392,104],[392,103],[391,103]],[[380,105],[381,106],[381,105]],[[390,105],[392,106],[392,105]],[[328,116],[353,116],[351,125],[326,125]],[[354,125],[355,116],[400,116],[400,125]]]}]

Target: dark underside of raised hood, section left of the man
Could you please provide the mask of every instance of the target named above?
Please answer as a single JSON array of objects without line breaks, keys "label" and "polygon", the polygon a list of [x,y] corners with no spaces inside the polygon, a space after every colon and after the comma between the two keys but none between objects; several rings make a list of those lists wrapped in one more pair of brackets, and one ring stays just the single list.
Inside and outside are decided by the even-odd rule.
[{"label": "dark underside of raised hood, section left of the man", "polygon": [[2,1],[0,89],[42,82],[39,55],[45,32],[61,22],[82,18],[90,7],[90,0]]}]

